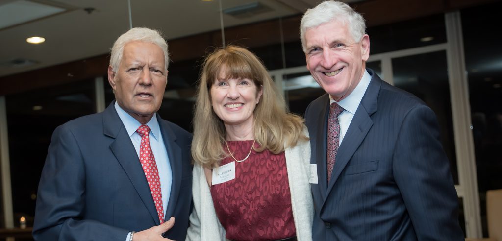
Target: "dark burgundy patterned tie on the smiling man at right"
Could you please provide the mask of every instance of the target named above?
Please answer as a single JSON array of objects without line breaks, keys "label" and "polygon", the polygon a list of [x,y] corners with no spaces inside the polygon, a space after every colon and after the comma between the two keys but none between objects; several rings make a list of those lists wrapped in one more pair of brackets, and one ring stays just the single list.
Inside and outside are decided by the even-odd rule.
[{"label": "dark burgundy patterned tie on the smiling man at right", "polygon": [[329,106],[328,118],[328,183],[331,180],[331,173],[335,165],[336,152],[338,151],[338,140],[340,139],[340,124],[338,123],[338,115],[343,111],[337,103],[333,102]]}]

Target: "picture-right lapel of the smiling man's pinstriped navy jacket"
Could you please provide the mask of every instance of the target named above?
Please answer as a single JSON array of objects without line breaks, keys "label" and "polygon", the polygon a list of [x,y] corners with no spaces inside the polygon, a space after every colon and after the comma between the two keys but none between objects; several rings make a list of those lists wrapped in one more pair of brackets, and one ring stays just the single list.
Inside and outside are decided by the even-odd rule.
[{"label": "picture-right lapel of the smiling man's pinstriped navy jacket", "polygon": [[324,198],[324,202],[326,202],[326,200],[328,199],[327,196],[331,192],[331,189],[333,189],[333,186],[335,185],[348,161],[361,145],[362,141],[369,132],[369,129],[371,129],[371,126],[373,126],[373,121],[370,115],[376,111],[376,103],[378,100],[382,80],[378,76],[376,76],[376,74],[374,74],[370,69],[368,69],[368,72],[370,75],[372,75],[372,78],[369,82],[366,92],[361,99],[361,103],[359,103],[359,106],[357,107],[347,133],[345,133],[342,143],[338,148],[335,166],[333,167],[331,181],[328,184],[327,195]]}]

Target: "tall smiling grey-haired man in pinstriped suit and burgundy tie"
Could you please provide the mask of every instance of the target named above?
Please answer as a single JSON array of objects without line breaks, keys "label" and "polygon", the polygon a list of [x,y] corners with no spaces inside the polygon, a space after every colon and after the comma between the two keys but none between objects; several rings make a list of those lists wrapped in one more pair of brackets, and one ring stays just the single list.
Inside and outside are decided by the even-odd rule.
[{"label": "tall smiling grey-haired man in pinstriped suit and burgundy tie", "polygon": [[308,10],[307,68],[327,92],[305,112],[314,240],[463,240],[434,112],[365,68],[364,19],[346,4]]}]

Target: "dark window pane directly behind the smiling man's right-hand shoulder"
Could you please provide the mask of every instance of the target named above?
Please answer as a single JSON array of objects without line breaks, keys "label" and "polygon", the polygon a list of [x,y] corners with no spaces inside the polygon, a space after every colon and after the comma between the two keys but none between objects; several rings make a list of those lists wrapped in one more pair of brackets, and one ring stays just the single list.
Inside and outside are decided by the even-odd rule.
[{"label": "dark window pane directly behind the smiling man's right-hand shoulder", "polygon": [[458,184],[446,52],[394,58],[392,66],[394,85],[416,95],[436,113],[441,142],[450,161],[453,180]]}]

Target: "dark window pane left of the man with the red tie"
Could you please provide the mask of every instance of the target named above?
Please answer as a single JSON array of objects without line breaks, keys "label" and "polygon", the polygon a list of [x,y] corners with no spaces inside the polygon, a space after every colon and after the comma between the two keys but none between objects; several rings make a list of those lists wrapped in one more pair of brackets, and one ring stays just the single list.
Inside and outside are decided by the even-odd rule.
[{"label": "dark window pane left of the man with the red tie", "polygon": [[95,112],[94,81],[6,96],[14,223],[33,226],[37,188],[54,129]]}]

